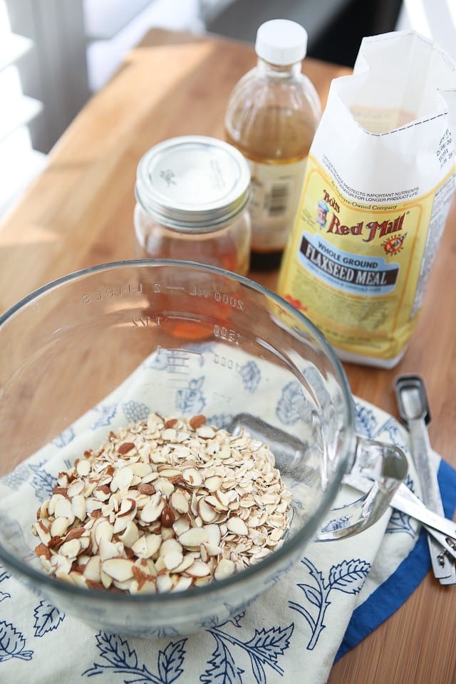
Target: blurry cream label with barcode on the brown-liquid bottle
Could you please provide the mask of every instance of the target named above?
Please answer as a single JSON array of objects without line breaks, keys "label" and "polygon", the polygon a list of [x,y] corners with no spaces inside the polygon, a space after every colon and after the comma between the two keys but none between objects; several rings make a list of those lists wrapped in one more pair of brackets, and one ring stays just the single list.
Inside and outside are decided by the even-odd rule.
[{"label": "blurry cream label with barcode on the brown-liquid bottle", "polygon": [[306,158],[291,164],[249,162],[252,174],[252,249],[274,252],[284,249],[293,227],[301,194]]}]

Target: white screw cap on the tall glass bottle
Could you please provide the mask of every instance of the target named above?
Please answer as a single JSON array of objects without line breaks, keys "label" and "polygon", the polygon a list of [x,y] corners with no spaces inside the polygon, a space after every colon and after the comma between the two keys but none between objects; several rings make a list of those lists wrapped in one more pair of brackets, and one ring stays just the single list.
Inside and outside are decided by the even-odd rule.
[{"label": "white screw cap on the tall glass bottle", "polygon": [[271,64],[294,64],[306,56],[307,31],[289,19],[271,19],[257,31],[255,51]]}]

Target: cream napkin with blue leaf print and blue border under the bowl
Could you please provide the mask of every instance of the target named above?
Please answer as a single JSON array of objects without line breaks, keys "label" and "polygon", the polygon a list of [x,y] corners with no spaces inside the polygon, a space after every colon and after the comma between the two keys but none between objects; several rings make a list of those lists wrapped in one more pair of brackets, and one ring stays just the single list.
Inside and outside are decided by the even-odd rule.
[{"label": "cream napkin with blue leaf print and blue border under the bowl", "polygon": [[[239,368],[239,383],[261,393],[261,368],[249,363]],[[154,374],[163,372],[160,358],[149,358],[136,372],[142,387],[152,386]],[[176,410],[203,413],[206,383],[203,362],[198,380],[177,392]],[[46,462],[41,450],[4,477],[0,497],[26,487],[35,510],[55,482],[48,463],[66,463],[75,448],[80,453],[118,425],[147,416],[147,398],[132,388],[116,390],[48,445]],[[286,385],[277,398],[268,396],[276,415],[295,390]],[[286,415],[291,420],[289,410]],[[356,399],[356,419],[359,434],[408,453],[408,433],[390,415]],[[437,455],[435,461],[445,513],[452,517],[456,472]],[[413,467],[406,484],[420,494]],[[357,537],[309,544],[273,589],[226,623],[192,636],[142,640],[96,631],[61,613],[0,566],[0,682],[83,684],[93,677],[99,684],[323,684],[334,660],[385,621],[429,569],[418,523],[390,511]]]}]

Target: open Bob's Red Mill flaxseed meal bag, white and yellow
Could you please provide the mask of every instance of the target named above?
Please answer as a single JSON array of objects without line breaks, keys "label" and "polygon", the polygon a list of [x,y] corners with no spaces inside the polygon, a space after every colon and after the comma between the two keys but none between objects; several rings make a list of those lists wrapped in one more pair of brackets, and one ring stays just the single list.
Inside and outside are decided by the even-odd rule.
[{"label": "open Bob's Red Mill flaxseed meal bag, white and yellow", "polygon": [[344,361],[392,368],[455,188],[456,66],[415,31],[364,38],[331,83],[279,294]]}]

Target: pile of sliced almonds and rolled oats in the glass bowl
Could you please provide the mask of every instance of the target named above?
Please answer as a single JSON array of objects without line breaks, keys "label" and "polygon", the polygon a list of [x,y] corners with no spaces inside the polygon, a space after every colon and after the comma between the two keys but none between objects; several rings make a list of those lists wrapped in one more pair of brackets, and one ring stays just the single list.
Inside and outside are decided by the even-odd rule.
[{"label": "pile of sliced almonds and rolled oats in the glass bowl", "polygon": [[182,591],[276,549],[290,499],[269,447],[247,433],[152,413],[58,475],[35,552],[76,586]]}]

